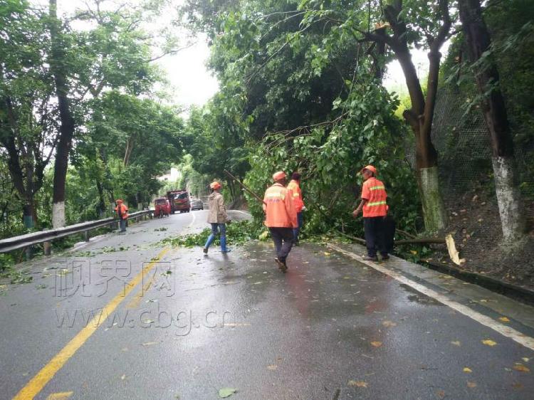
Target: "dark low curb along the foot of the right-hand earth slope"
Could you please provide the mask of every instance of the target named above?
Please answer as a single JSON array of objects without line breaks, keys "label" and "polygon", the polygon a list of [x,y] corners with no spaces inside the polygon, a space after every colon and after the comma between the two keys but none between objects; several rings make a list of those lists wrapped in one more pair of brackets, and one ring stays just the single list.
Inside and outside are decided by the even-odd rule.
[{"label": "dark low curb along the foot of the right-hand earth slope", "polygon": [[425,261],[424,265],[431,270],[436,270],[440,273],[446,273],[447,275],[454,276],[461,280],[465,280],[468,283],[481,286],[491,290],[492,292],[499,293],[513,300],[524,302],[528,305],[534,305],[534,291],[527,288],[523,288],[513,283],[507,283],[503,280],[491,278],[490,276],[482,275],[480,273],[473,273],[460,268],[451,267],[451,265],[433,263],[431,261]]}]

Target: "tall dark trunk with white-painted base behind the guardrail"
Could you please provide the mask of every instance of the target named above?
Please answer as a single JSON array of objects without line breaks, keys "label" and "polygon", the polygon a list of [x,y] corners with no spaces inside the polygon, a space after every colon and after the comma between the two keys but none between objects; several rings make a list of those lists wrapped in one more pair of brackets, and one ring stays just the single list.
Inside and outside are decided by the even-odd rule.
[{"label": "tall dark trunk with white-painted base behind the guardrail", "polygon": [[49,1],[51,38],[50,68],[54,77],[54,83],[56,84],[59,119],[61,121],[56,159],[54,162],[52,224],[54,228],[60,228],[61,226],[65,226],[65,186],[68,154],[70,147],[72,147],[75,123],[68,99],[68,84],[65,70],[66,56],[60,38],[57,4],[56,0]]}]

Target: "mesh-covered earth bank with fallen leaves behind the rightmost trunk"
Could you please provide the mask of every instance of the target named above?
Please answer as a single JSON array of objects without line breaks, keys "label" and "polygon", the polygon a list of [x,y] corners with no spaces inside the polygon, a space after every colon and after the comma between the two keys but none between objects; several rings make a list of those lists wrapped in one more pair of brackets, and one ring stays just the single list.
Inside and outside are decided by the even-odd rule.
[{"label": "mesh-covered earth bank with fallen leaves behind the rightmost trunk", "polygon": [[486,123],[479,109],[466,115],[464,102],[465,94],[459,90],[439,90],[432,126],[432,142],[439,154],[441,194],[449,219],[447,231],[454,234],[461,257],[466,258],[464,268],[534,288],[534,182],[529,176],[534,143],[515,147],[522,214],[530,233],[523,246],[510,252],[502,246]]}]

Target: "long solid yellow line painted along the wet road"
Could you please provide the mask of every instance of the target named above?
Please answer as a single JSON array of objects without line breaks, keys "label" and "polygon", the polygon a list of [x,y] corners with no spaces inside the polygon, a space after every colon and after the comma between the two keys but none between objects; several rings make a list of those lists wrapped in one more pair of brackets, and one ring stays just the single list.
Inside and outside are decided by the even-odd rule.
[{"label": "long solid yellow line painted along the wet road", "polygon": [[[83,327],[80,332],[78,332],[75,337],[73,337],[70,342],[66,344],[63,349],[61,349],[58,354],[56,354],[53,359],[51,359],[48,364],[46,364],[43,368],[41,368],[41,371],[39,371],[35,377],[29,381],[26,386],[24,386],[19,393],[14,396],[14,400],[27,400],[27,399],[33,399],[33,397],[37,396],[37,394],[43,390],[43,387],[48,384],[49,381],[56,375],[56,373],[65,365],[65,363],[70,359],[70,357],[73,357],[76,351],[82,345],[89,339],[91,335],[95,332],[95,330],[98,329],[98,327],[105,322],[105,320],[108,319],[109,315],[115,311],[115,308],[117,308],[118,305],[120,305],[120,302],[126,298],[127,295],[130,294],[130,292],[142,281],[142,276],[144,273],[149,272],[152,268],[154,268],[154,265],[156,265],[157,261],[159,261],[168,251],[170,248],[164,248],[162,251],[159,252],[156,259],[153,260],[150,264],[148,264],[143,270],[138,273],[135,278],[130,280],[130,283],[126,286],[124,292],[121,291],[118,295],[115,296],[110,302],[108,302],[108,305],[104,307],[101,313],[93,317],[93,320],[91,320],[88,325]],[[100,320],[102,318],[102,320]]]}]

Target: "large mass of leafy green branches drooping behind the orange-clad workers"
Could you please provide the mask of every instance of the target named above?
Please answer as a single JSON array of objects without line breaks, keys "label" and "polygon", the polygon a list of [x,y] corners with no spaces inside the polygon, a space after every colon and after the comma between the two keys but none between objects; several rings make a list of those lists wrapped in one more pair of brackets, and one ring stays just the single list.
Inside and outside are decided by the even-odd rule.
[{"label": "large mass of leafy green branches drooping behind the orange-clad workers", "polygon": [[[234,115],[241,114],[241,135],[251,152],[246,181],[261,193],[274,171],[298,169],[313,212],[308,226],[315,231],[356,229],[358,224],[346,216],[357,196],[357,172],[375,162],[392,185],[404,182],[395,186],[392,205],[398,206],[399,220],[415,229],[420,203],[407,201],[417,186],[402,161],[404,128],[394,117],[397,101],[379,82],[389,54],[370,49],[328,16],[315,18],[298,5],[198,4],[205,15],[197,23],[211,38],[209,65],[226,99],[211,105],[210,112],[232,115],[229,105],[242,104]],[[206,143],[220,135],[197,126]],[[204,152],[200,149],[195,159]],[[261,204],[250,200],[261,218]]]}]

